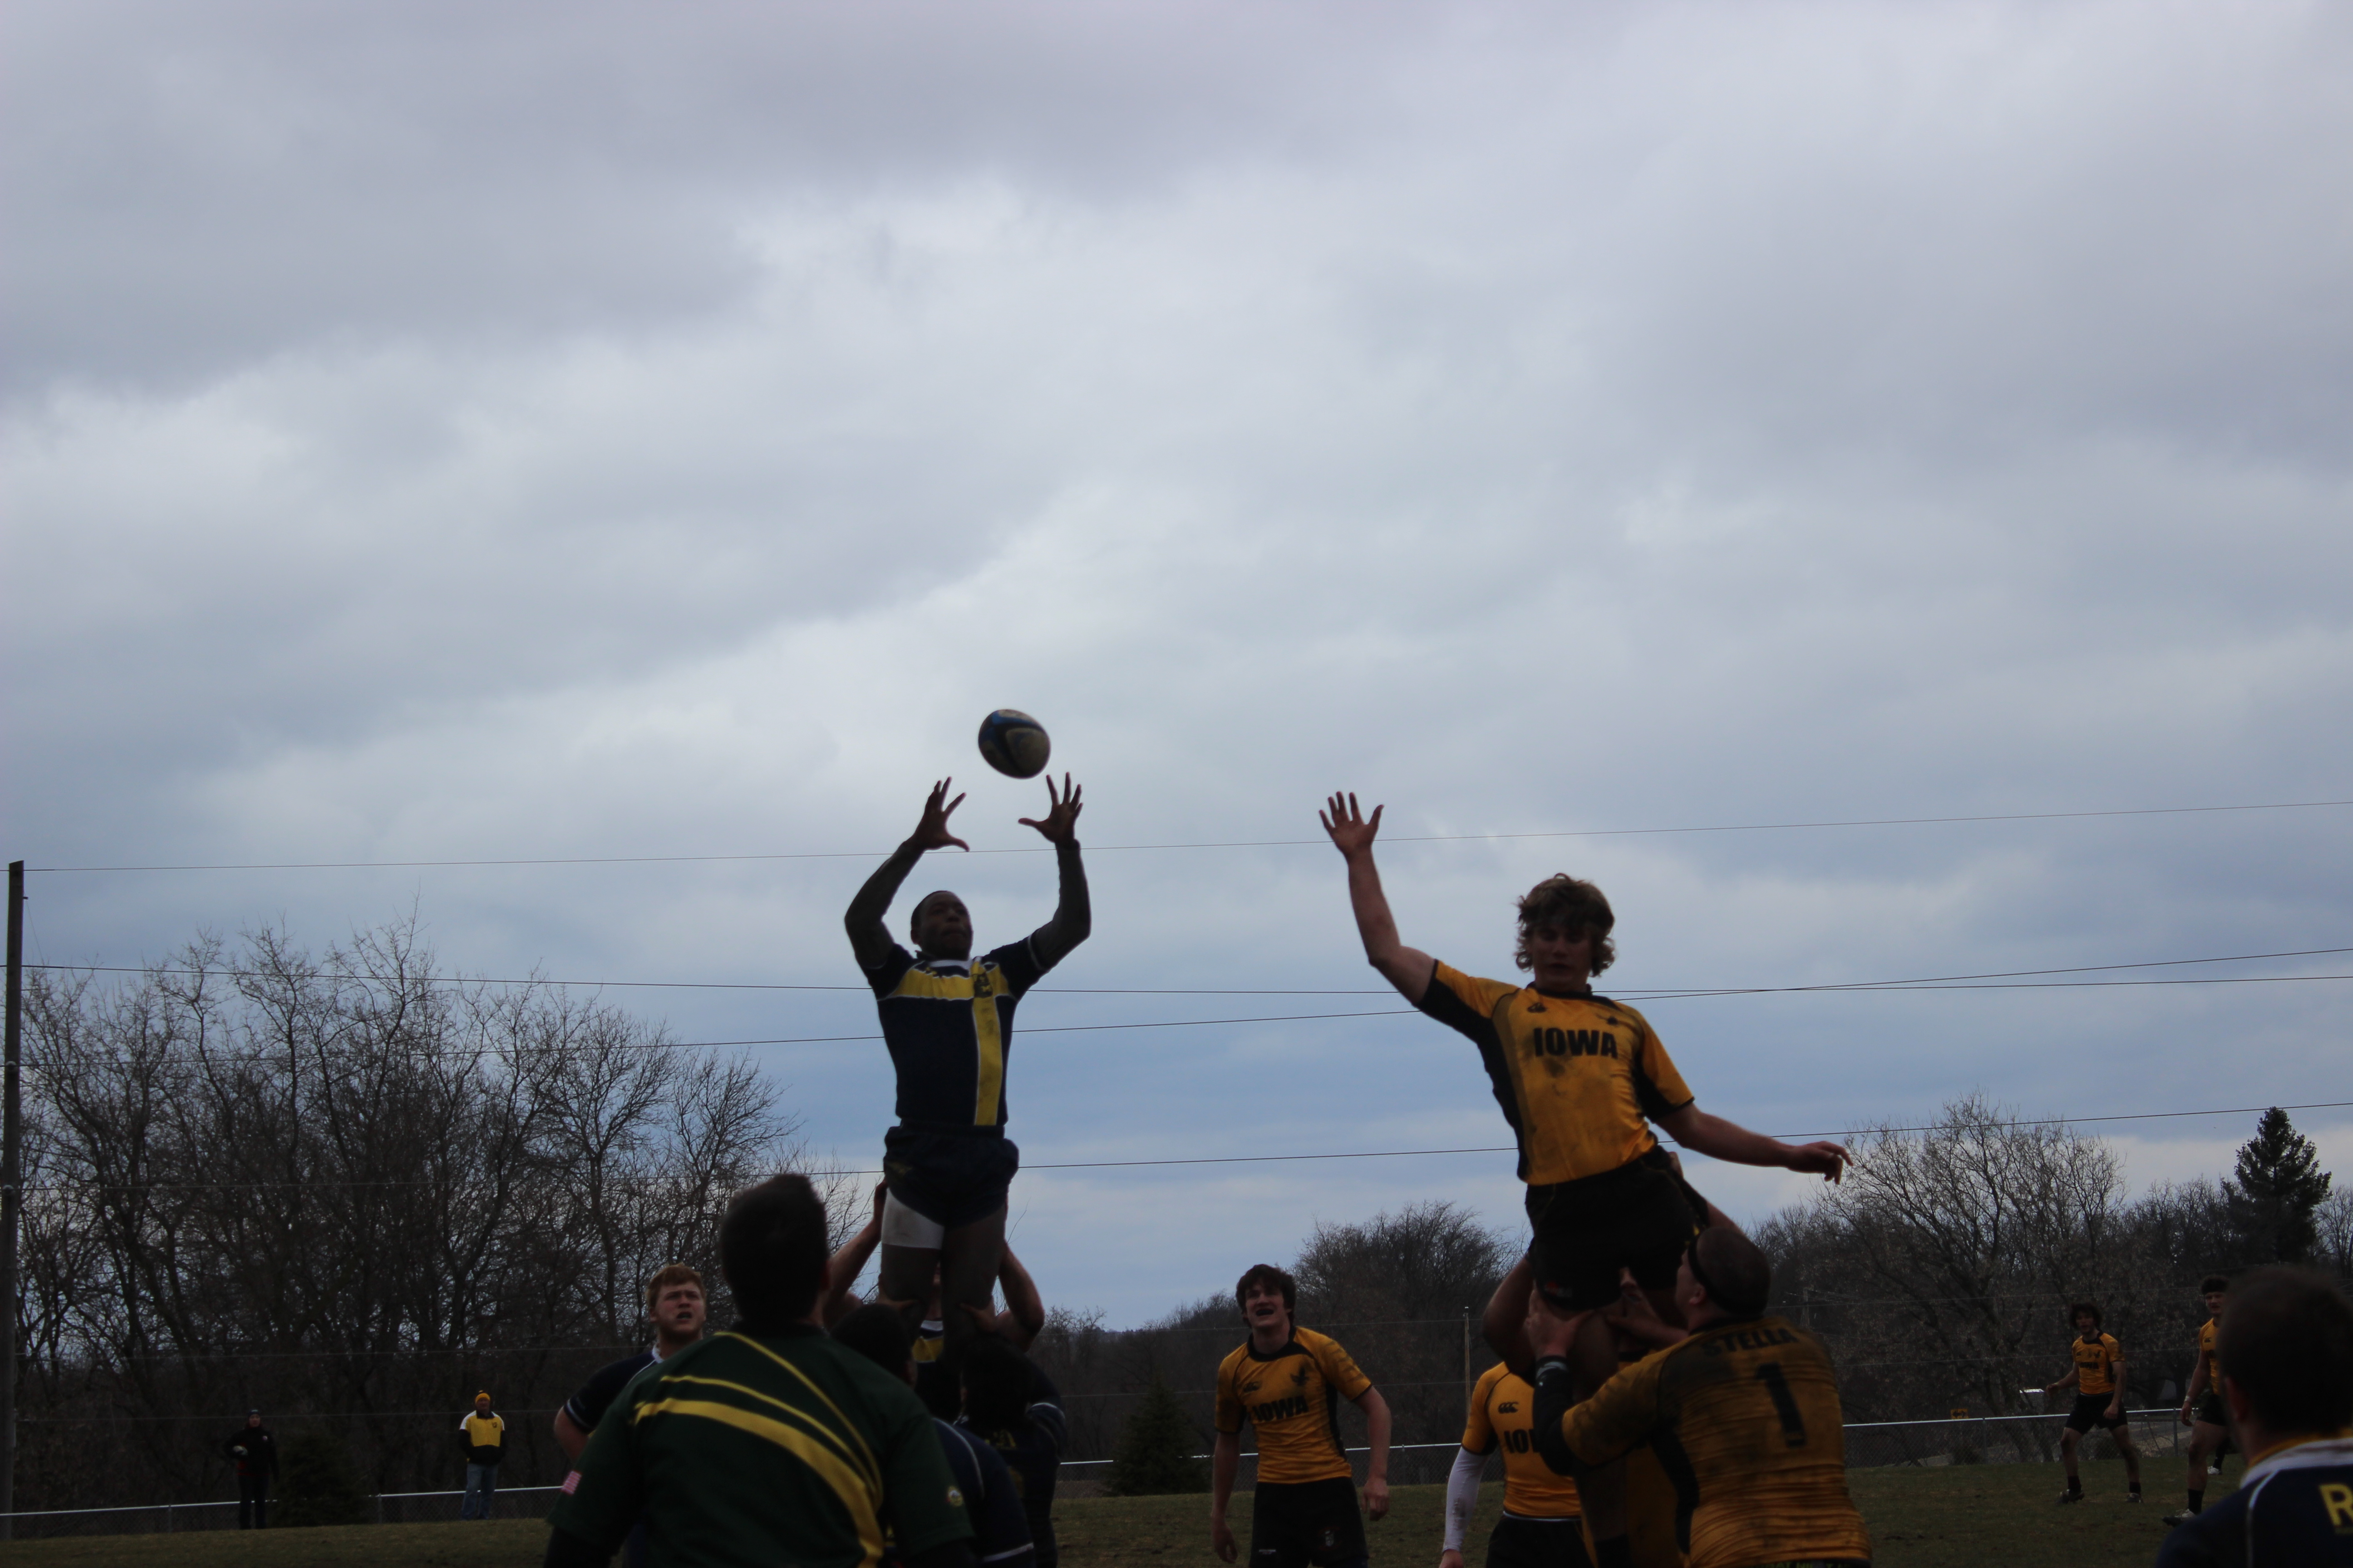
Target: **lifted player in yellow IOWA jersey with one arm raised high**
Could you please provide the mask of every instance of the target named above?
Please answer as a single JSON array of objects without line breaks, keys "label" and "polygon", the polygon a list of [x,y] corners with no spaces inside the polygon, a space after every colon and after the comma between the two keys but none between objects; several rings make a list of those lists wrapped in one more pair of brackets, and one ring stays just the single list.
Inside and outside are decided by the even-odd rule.
[{"label": "lifted player in yellow IOWA jersey with one arm raised high", "polygon": [[[1365,818],[1353,795],[1334,795],[1322,825],[1348,863],[1365,957],[1407,1001],[1480,1048],[1520,1145],[1534,1227],[1529,1258],[1539,1293],[1553,1305],[1567,1312],[1612,1305],[1626,1267],[1654,1309],[1675,1321],[1675,1262],[1701,1225],[1701,1204],[1675,1175],[1652,1124],[1715,1159],[1838,1178],[1847,1152],[1835,1143],[1774,1143],[1699,1110],[1649,1023],[1593,994],[1591,978],[1614,959],[1617,917],[1591,882],[1548,877],[1520,900],[1513,959],[1532,971],[1532,985],[1478,980],[1398,938],[1372,858],[1381,809]],[[1579,1396],[1617,1371],[1609,1326],[1598,1316],[1579,1331],[1572,1366]],[[1621,1474],[1593,1476],[1584,1500],[1609,1568],[1624,1554]]]}]

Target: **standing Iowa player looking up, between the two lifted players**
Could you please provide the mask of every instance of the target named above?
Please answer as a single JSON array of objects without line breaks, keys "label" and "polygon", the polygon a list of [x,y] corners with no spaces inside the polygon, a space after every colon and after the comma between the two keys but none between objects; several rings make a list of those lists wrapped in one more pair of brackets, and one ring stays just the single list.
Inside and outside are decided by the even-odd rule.
[{"label": "standing Iowa player looking up, between the two lifted players", "polygon": [[1235,1559],[1226,1500],[1242,1462],[1242,1422],[1259,1434],[1259,1486],[1249,1495],[1249,1568],[1362,1568],[1365,1521],[1339,1441],[1337,1410],[1365,1413],[1372,1462],[1365,1507],[1388,1514],[1388,1401],[1348,1352],[1313,1328],[1297,1328],[1299,1281],[1271,1262],[1233,1286],[1249,1338],[1217,1368],[1217,1448],[1209,1462],[1209,1544]]}]

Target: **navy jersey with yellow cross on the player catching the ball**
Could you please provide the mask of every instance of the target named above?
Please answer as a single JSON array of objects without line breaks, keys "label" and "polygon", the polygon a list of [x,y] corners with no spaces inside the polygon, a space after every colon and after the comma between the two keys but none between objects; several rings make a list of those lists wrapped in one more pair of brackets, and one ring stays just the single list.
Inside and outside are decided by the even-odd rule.
[{"label": "navy jersey with yellow cross on the player catching the ball", "polygon": [[1005,1058],[1014,1004],[1045,964],[1031,940],[984,952],[969,966],[892,943],[866,971],[882,1013],[882,1044],[899,1070],[899,1121],[922,1128],[1005,1131]]}]

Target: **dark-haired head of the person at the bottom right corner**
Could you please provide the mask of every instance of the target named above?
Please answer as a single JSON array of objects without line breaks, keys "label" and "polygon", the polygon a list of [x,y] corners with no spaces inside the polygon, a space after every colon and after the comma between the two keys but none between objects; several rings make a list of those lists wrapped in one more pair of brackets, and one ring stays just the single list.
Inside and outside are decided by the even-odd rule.
[{"label": "dark-haired head of the person at the bottom right corner", "polygon": [[2353,1305],[2311,1269],[2254,1269],[2214,1331],[2221,1375],[2273,1436],[2353,1425]]}]

